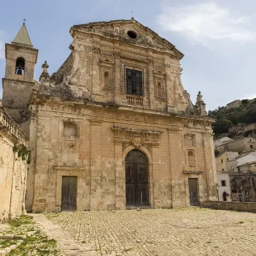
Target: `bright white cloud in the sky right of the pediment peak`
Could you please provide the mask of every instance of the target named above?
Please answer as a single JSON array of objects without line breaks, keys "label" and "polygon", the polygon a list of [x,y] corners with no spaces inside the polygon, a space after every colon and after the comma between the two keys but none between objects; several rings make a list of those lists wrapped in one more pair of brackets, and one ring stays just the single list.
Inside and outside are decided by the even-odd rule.
[{"label": "bright white cloud in the sky right of the pediment peak", "polygon": [[250,19],[215,3],[180,8],[163,6],[157,21],[163,29],[180,33],[205,46],[224,40],[239,43],[256,40],[255,32],[250,29]]}]

